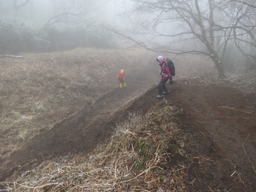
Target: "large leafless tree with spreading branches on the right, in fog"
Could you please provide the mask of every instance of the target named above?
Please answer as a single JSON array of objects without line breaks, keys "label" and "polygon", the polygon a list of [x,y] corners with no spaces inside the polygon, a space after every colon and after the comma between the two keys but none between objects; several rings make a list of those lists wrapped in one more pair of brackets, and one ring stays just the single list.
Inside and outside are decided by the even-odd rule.
[{"label": "large leafless tree with spreading branches on the right, in fog", "polygon": [[[157,52],[207,55],[219,78],[225,76],[222,58],[228,41],[239,41],[242,50],[241,42],[248,43],[245,34],[255,40],[253,7],[221,0],[132,1],[135,7],[127,16],[134,24],[133,31],[148,40],[137,43]],[[169,45],[156,47],[160,37],[166,37]]]}]

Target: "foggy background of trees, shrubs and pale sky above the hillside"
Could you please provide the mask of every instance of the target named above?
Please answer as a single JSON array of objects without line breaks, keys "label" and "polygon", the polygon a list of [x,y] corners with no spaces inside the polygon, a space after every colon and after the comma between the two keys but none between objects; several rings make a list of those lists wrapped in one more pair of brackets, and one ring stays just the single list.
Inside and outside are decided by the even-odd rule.
[{"label": "foggy background of trees, shrubs and pale sky above the hillside", "polygon": [[256,68],[254,0],[0,0],[0,55],[121,44],[205,55],[226,71]]}]

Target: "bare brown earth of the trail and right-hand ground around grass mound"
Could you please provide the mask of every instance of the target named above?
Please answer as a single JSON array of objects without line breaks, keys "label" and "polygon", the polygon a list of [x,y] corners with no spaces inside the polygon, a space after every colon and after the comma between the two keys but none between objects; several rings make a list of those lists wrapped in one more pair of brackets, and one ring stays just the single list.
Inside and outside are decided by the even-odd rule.
[{"label": "bare brown earth of the trail and right-hand ground around grass mound", "polygon": [[[159,80],[159,69],[155,64],[152,62],[148,68],[128,71],[125,89],[115,88],[50,131],[36,135],[4,166],[1,180],[45,160],[89,152],[109,138],[112,127],[126,119],[129,112],[141,110],[145,113],[156,101],[162,100],[156,98],[157,87],[154,85]],[[176,66],[179,74],[179,66]],[[182,69],[183,76],[190,72],[189,68]],[[196,143],[196,147],[190,149],[194,163],[188,175],[197,180],[189,191],[213,191],[217,187],[221,191],[256,191],[254,74],[233,81],[215,82],[207,80],[207,76],[184,79],[177,75],[175,83],[167,85],[171,93],[164,99],[182,109],[183,113],[178,116],[180,128]],[[207,166],[196,158],[205,154],[211,158],[207,159],[211,162]],[[179,164],[184,160],[182,155],[174,156],[170,163]],[[241,182],[236,183],[235,178]]]}]

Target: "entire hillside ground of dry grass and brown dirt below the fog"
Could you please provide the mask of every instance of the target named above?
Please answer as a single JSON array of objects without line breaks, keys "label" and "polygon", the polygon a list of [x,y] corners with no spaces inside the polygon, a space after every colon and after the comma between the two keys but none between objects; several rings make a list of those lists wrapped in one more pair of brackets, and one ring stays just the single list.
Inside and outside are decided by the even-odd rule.
[{"label": "entire hillside ground of dry grass and brown dirt below the fog", "polygon": [[157,99],[156,53],[21,56],[0,58],[2,191],[256,191],[255,71],[174,57]]}]

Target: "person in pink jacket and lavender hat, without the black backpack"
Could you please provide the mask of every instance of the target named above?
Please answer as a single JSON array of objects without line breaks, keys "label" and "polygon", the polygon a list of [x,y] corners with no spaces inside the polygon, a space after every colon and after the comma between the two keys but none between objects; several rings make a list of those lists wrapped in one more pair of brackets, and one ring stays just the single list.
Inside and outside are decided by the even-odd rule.
[{"label": "person in pink jacket and lavender hat, without the black backpack", "polygon": [[[165,58],[163,58],[162,56],[158,56],[156,59],[159,62],[159,65],[161,67],[161,72],[160,72],[160,76],[161,76],[161,80],[160,83],[158,84],[158,95],[156,97],[164,97],[164,94],[170,93],[170,90],[166,87],[165,83],[168,81],[168,79],[170,79],[170,84],[173,83],[172,81],[172,74],[169,70],[169,67],[165,64]],[[163,92],[164,91],[164,92]]]}]

